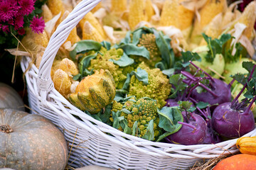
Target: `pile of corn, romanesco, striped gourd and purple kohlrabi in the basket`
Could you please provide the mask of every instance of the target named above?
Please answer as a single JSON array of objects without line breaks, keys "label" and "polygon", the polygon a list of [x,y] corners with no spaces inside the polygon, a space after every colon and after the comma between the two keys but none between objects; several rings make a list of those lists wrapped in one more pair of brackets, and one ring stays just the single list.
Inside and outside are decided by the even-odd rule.
[{"label": "pile of corn, romanesco, striped gourd and purple kohlrabi in the basket", "polygon": [[[102,1],[58,50],[55,89],[85,114],[146,140],[196,145],[241,137],[255,129],[256,2],[242,12],[238,4]],[[45,30],[28,32],[19,48],[36,67],[75,5],[42,6]]]}]

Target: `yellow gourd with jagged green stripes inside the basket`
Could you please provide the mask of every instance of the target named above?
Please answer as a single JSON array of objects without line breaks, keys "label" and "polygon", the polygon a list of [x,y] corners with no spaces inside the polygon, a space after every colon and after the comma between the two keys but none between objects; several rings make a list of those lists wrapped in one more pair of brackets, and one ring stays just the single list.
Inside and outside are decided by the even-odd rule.
[{"label": "yellow gourd with jagged green stripes inside the basket", "polygon": [[82,79],[75,93],[69,94],[68,99],[82,111],[98,113],[114,100],[114,96],[115,84],[112,74],[107,69],[100,69],[100,72],[95,71]]}]

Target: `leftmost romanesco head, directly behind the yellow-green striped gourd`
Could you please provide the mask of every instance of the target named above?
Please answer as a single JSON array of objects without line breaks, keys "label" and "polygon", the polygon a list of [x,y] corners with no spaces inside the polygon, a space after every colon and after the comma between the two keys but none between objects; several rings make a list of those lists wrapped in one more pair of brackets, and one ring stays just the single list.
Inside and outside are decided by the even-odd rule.
[{"label": "leftmost romanesco head, directly behind the yellow-green striped gourd", "polygon": [[116,88],[122,89],[124,81],[127,79],[127,73],[130,71],[129,66],[119,67],[119,65],[109,61],[110,59],[119,60],[122,57],[122,55],[123,50],[121,48],[112,48],[110,50],[107,50],[105,47],[102,47],[97,57],[95,59],[90,60],[90,67],[88,67],[88,69],[108,69],[114,78]]}]

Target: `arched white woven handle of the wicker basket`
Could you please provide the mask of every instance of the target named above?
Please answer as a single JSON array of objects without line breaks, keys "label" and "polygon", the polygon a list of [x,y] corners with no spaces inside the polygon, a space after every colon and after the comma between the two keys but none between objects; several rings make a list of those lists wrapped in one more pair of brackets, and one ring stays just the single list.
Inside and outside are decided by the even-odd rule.
[{"label": "arched white woven handle of the wicker basket", "polygon": [[60,46],[65,42],[71,30],[78,25],[79,21],[92,10],[101,0],[83,0],[81,1],[67,18],[56,28],[53,35],[50,37],[46,51],[43,53],[41,64],[38,70],[38,93],[41,96],[43,105],[46,106],[46,97],[53,89],[53,81],[50,78],[50,69],[53,65],[53,60]]}]

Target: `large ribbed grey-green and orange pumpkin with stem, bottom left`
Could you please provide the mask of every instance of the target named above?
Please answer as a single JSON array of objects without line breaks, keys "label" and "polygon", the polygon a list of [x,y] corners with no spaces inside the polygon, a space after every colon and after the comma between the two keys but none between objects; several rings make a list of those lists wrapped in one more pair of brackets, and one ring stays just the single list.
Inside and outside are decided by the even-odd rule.
[{"label": "large ribbed grey-green and orange pumpkin with stem, bottom left", "polygon": [[63,133],[41,115],[0,108],[0,169],[61,169],[68,162]]}]

